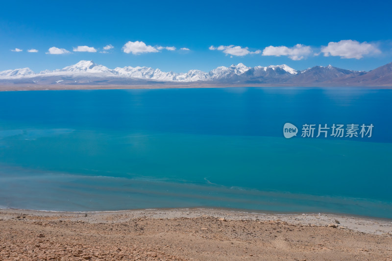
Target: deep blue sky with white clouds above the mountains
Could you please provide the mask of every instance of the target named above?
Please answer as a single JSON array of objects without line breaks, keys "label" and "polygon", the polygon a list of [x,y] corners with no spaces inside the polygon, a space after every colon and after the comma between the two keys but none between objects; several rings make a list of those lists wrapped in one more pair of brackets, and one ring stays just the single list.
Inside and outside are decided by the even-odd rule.
[{"label": "deep blue sky with white clouds above the mountains", "polygon": [[6,1],[0,71],[79,60],[176,72],[238,63],[368,71],[392,62],[391,10],[378,0]]}]

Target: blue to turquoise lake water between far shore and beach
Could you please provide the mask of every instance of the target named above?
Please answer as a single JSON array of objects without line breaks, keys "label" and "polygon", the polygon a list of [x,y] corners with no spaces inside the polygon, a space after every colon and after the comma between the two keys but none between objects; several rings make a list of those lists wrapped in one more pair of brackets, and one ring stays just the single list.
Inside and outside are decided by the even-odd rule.
[{"label": "blue to turquoise lake water between far shore and beach", "polygon": [[[392,218],[391,101],[352,87],[0,92],[0,207]],[[301,137],[334,123],[374,127]]]}]

